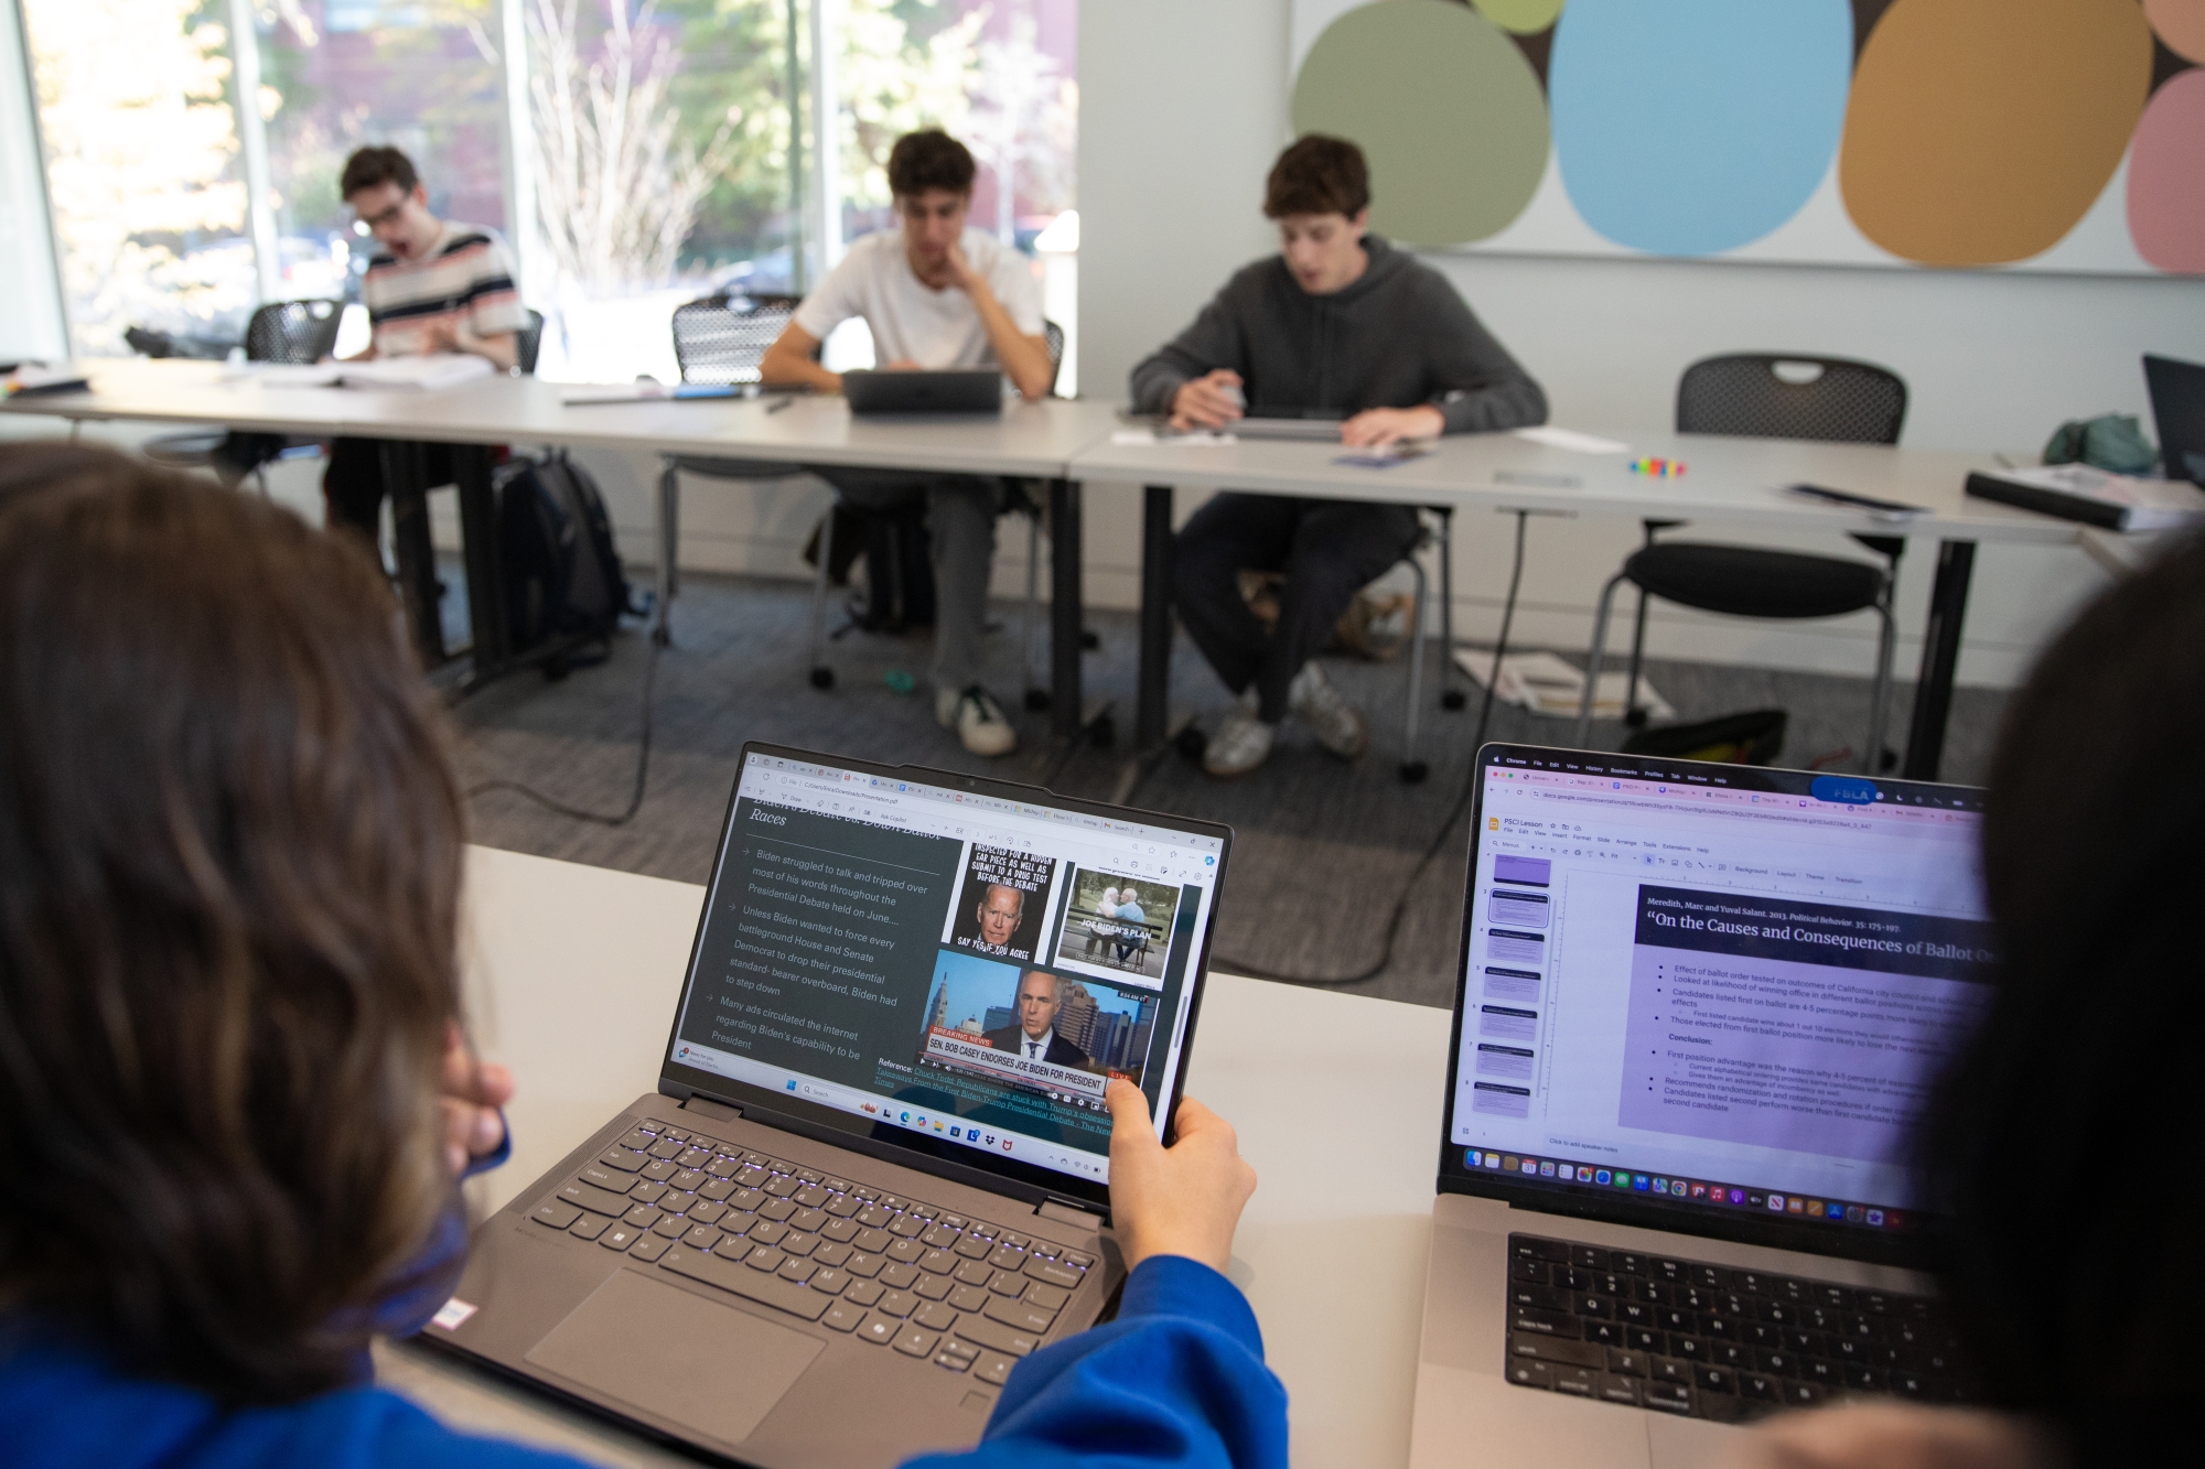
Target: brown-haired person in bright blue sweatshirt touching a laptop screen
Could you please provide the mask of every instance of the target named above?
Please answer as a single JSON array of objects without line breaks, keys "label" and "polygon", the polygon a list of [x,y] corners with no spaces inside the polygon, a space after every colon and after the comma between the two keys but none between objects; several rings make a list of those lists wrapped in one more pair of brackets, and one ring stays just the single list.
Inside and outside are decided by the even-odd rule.
[{"label": "brown-haired person in bright blue sweatshirt touching a laptop screen", "polygon": [[[512,1079],[465,1043],[441,706],[346,538],[0,450],[0,1460],[571,1465],[370,1385],[448,1299]],[[1109,1092],[1118,1319],[924,1462],[1286,1465],[1222,1275],[1255,1173]],[[864,1412],[856,1405],[853,1412]]]}]

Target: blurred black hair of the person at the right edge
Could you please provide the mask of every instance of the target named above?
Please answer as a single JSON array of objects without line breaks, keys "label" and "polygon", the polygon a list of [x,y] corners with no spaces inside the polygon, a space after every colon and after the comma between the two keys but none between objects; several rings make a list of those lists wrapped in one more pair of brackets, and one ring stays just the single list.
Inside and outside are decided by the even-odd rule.
[{"label": "blurred black hair of the person at the right edge", "polygon": [[2190,540],[2051,644],[1991,761],[1993,990],[1938,1083],[1923,1182],[1991,1401],[2070,1432],[2126,1423],[2117,1398],[2194,1390],[2201,741],[2205,540]]}]

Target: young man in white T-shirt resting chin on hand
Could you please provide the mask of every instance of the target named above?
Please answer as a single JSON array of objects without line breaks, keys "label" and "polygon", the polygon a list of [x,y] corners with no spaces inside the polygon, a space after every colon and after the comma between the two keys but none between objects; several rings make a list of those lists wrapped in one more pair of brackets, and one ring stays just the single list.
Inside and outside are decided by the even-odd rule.
[{"label": "young man in white T-shirt resting chin on hand", "polygon": [[[889,152],[897,229],[849,247],[765,351],[767,386],[840,393],[842,375],[814,353],[829,331],[864,318],[886,368],[999,366],[1028,399],[1056,379],[1041,335],[1041,287],[1019,251],[966,227],[972,154],[939,128],[908,132]],[[926,496],[935,565],[935,717],[972,754],[1010,754],[1019,735],[981,686],[988,571],[1003,483],[977,474],[820,470],[851,505],[886,510]]]}]

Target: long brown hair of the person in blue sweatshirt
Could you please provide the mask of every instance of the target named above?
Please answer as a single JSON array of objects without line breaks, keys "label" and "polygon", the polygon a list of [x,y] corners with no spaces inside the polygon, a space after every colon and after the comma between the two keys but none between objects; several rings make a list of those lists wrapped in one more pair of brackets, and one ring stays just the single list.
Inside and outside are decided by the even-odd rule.
[{"label": "long brown hair of the person in blue sweatshirt", "polygon": [[0,452],[0,1310],[225,1403],[348,1381],[454,1198],[461,843],[368,556]]}]

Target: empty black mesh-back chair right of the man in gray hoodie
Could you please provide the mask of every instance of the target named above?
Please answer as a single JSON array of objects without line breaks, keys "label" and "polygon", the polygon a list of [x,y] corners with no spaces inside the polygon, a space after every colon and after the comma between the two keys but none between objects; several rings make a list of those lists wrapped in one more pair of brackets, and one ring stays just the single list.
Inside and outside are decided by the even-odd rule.
[{"label": "empty black mesh-back chair right of the man in gray hoodie", "polygon": [[[1890,368],[1846,357],[1793,353],[1733,353],[1707,357],[1685,368],[1676,386],[1676,430],[1680,435],[1738,435],[1746,439],[1817,439],[1826,443],[1899,443],[1907,417],[1907,384]],[[1647,521],[1645,545],[1623,562],[1601,589],[1592,624],[1592,657],[1585,693],[1577,710],[1577,743],[1592,737],[1592,699],[1599,688],[1607,644],[1607,613],[1616,587],[1638,587],[1632,629],[1632,671],[1625,719],[1643,723],[1638,671],[1645,657],[1647,598],[1663,598],[1733,618],[1843,618],[1874,611],[1883,622],[1876,640],[1876,679],[1870,695],[1868,741],[1861,770],[1874,774],[1883,761],[1883,726],[1892,693],[1896,622],[1892,591],[1899,585],[1903,536],[1854,536],[1885,565],[1841,556],[1804,556],[1744,545],[1656,540],[1676,521]]]}]

